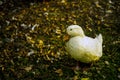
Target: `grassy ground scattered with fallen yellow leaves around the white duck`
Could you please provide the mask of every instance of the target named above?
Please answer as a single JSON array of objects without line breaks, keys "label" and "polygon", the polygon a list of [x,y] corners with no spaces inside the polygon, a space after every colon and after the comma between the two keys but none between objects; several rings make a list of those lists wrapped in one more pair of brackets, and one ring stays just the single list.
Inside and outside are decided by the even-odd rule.
[{"label": "grassy ground scattered with fallen yellow leaves around the white duck", "polygon": [[[120,2],[117,0],[0,0],[1,80],[119,80]],[[103,35],[92,66],[66,55],[66,28]]]}]

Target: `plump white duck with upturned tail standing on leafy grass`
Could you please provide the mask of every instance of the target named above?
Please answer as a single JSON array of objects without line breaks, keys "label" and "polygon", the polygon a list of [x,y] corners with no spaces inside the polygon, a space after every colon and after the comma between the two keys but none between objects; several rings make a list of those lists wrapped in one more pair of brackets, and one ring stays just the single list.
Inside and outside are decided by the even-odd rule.
[{"label": "plump white duck with upturned tail standing on leafy grass", "polygon": [[66,43],[66,50],[72,58],[90,63],[99,60],[102,56],[102,35],[95,38],[85,36],[82,28],[78,25],[71,25],[67,28],[71,39]]}]

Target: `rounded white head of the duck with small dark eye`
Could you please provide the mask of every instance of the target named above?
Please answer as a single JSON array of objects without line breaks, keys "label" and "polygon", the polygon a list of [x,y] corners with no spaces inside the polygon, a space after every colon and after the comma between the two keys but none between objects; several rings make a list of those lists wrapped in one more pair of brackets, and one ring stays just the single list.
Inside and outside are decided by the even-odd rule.
[{"label": "rounded white head of the duck with small dark eye", "polygon": [[67,34],[74,37],[74,36],[80,36],[80,37],[84,37],[85,34],[83,32],[83,29],[78,26],[78,25],[70,25],[67,28]]}]

